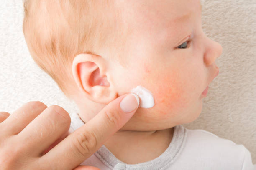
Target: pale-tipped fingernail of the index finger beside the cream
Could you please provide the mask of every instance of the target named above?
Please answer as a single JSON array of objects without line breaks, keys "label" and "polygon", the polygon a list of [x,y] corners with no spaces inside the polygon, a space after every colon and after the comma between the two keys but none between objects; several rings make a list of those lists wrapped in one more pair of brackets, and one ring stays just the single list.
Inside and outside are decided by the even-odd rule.
[{"label": "pale-tipped fingernail of the index finger beside the cream", "polygon": [[136,94],[130,93],[126,95],[123,100],[120,102],[120,107],[125,113],[129,113],[134,109],[138,108],[140,99]]}]

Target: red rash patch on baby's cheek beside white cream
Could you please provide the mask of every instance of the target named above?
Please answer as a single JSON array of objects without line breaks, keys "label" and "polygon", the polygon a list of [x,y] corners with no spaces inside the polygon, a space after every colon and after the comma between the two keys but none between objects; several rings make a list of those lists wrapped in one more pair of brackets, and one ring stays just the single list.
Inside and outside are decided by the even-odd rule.
[{"label": "red rash patch on baby's cheek beside white cream", "polygon": [[159,114],[166,114],[170,108],[182,107],[183,81],[175,68],[172,70],[167,67],[157,69],[144,63],[143,71],[143,80],[152,90],[154,107],[157,107]]}]

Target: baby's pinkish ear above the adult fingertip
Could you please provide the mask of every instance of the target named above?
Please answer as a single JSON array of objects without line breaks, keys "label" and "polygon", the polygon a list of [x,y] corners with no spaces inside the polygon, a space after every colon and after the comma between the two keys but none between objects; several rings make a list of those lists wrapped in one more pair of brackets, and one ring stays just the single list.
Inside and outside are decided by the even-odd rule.
[{"label": "baby's pinkish ear above the adult fingertip", "polygon": [[102,104],[108,104],[117,98],[113,83],[108,81],[106,68],[107,63],[101,56],[87,53],[77,55],[72,63],[72,73],[79,92]]}]

